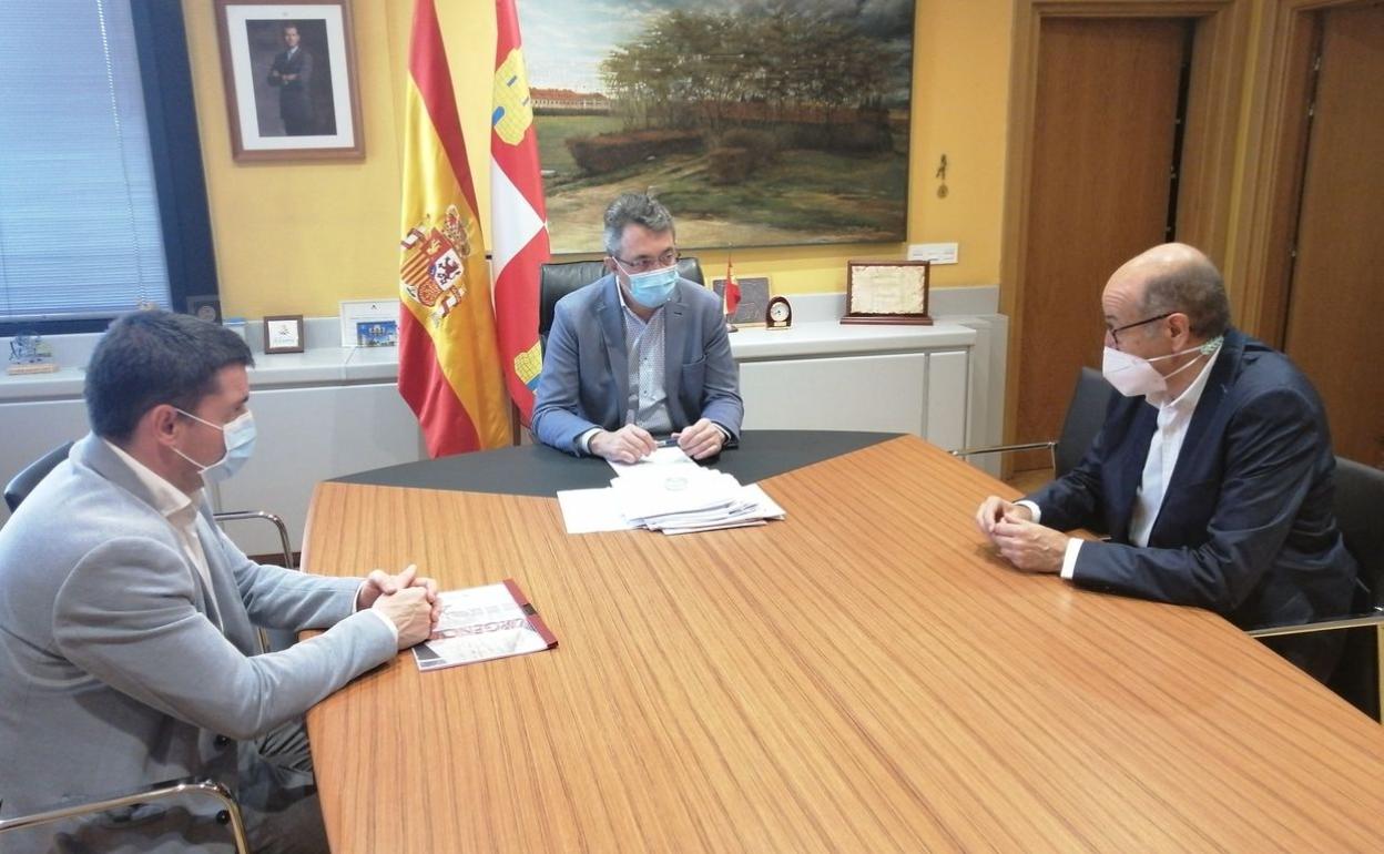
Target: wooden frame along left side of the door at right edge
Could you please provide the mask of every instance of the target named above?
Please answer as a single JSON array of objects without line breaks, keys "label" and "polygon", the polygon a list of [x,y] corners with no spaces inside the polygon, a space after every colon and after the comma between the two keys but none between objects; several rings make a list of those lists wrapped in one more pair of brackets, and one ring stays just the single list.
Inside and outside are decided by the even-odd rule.
[{"label": "wooden frame along left side of the door at right edge", "polygon": [[[1309,15],[1327,8],[1370,6],[1363,0],[1268,0],[1258,29],[1254,75],[1246,120],[1243,203],[1236,217],[1239,237],[1229,269],[1243,282],[1239,318],[1243,329],[1275,347],[1283,346],[1291,266],[1284,238],[1295,233],[1302,201],[1302,159],[1306,138],[1295,122],[1308,104],[1300,66],[1304,35],[1315,28]],[[1381,635],[1384,637],[1384,635]]]}]

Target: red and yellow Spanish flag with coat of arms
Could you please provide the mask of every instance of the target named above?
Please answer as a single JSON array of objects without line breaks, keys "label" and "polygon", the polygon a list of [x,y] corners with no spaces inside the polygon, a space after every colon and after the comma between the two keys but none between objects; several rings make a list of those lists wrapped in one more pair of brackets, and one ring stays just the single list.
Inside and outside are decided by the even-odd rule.
[{"label": "red and yellow Spanish flag with coat of arms", "polygon": [[399,393],[433,457],[507,446],[490,271],[433,0],[414,4],[404,104]]}]

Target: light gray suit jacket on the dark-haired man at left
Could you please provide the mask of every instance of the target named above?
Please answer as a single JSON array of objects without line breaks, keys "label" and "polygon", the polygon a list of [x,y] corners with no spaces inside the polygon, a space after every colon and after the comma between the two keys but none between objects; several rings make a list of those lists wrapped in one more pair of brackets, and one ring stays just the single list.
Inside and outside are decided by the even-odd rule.
[{"label": "light gray suit jacket on the dark-haired man at left", "polygon": [[[352,615],[360,580],[251,562],[203,509],[208,590],[133,471],[87,436],[0,529],[0,817],[206,775],[234,790],[237,739],[300,716],[392,659],[378,617]],[[325,634],[255,655],[253,626]],[[215,808],[155,812],[100,850],[188,850],[226,840]],[[47,850],[53,830],[6,836]]]}]

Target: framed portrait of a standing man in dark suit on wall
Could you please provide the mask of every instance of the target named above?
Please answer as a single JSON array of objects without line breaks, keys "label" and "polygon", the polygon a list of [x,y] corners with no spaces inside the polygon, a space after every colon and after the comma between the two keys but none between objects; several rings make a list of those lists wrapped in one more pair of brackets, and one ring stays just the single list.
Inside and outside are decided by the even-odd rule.
[{"label": "framed portrait of a standing man in dark suit on wall", "polygon": [[216,29],[233,159],[365,156],[347,0],[216,0]]}]

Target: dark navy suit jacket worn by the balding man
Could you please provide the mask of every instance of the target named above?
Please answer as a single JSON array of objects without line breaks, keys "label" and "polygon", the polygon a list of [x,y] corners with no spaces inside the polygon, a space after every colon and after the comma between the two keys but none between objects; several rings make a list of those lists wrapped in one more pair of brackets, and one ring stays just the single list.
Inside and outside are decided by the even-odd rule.
[{"label": "dark navy suit jacket worn by the balding man", "polygon": [[1081,547],[1077,584],[1197,605],[1246,628],[1347,612],[1358,569],[1331,512],[1326,414],[1286,356],[1226,332],[1149,547],[1136,548],[1129,519],[1156,428],[1143,397],[1116,394],[1081,464],[1030,497],[1045,526],[1110,534]]}]

